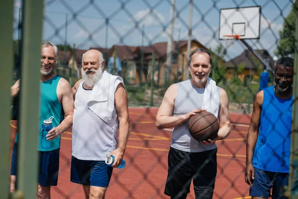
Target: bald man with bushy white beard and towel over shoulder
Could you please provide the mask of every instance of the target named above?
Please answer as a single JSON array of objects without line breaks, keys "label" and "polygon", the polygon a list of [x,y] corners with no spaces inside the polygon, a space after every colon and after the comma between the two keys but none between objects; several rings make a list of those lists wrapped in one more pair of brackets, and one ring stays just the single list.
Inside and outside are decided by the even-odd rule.
[{"label": "bald man with bushy white beard and towel over shoulder", "polygon": [[[103,72],[104,63],[102,53],[99,51],[89,50],[84,53],[82,79],[73,87],[71,181],[83,185],[86,199],[104,199],[112,170],[122,162],[129,133],[127,94],[122,78],[111,76],[106,71]],[[103,77],[109,78],[101,81],[101,87],[104,88],[98,91],[102,93],[96,93],[95,88],[98,86],[94,86]],[[116,80],[106,81],[108,79]],[[92,93],[93,90],[95,90],[94,93]],[[105,91],[109,91],[108,94],[105,95]],[[112,103],[111,95],[114,96],[112,110],[104,107],[105,104]],[[94,106],[90,107],[88,103],[93,96],[95,101],[96,98],[98,101],[104,101],[103,96],[108,96],[108,101],[94,109]],[[106,110],[107,115],[102,114],[103,110]],[[106,155],[115,157],[113,167],[105,163]]]}]

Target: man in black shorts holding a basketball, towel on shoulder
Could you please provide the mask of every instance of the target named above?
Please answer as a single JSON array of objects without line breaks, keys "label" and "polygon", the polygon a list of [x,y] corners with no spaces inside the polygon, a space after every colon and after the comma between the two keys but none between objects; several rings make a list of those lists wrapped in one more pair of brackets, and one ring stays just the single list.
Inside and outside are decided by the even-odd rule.
[{"label": "man in black shorts holding a basketball, towel on shoulder", "polygon": [[[192,78],[167,89],[156,115],[158,129],[174,127],[164,191],[171,199],[186,199],[192,179],[196,199],[213,197],[217,175],[215,142],[228,136],[230,120],[227,95],[209,78],[211,66],[212,55],[208,50],[192,51],[189,56]],[[206,110],[218,117],[220,129],[215,140],[198,142],[189,133],[188,120]]]}]

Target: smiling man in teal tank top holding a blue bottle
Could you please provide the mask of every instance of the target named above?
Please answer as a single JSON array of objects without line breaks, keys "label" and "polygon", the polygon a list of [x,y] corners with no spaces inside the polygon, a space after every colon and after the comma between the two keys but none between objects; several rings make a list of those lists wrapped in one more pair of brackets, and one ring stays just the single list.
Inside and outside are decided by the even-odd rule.
[{"label": "smiling man in teal tank top holding a blue bottle", "polygon": [[[54,72],[57,58],[57,47],[45,41],[41,48],[41,82],[40,82],[40,133],[38,151],[40,157],[37,195],[39,199],[50,199],[51,186],[57,186],[59,173],[60,135],[73,123],[74,99],[71,85],[67,80]],[[11,96],[16,97],[19,91],[19,80],[11,87]],[[44,120],[52,119],[54,126],[48,134],[42,133]],[[25,139],[22,138],[21,139]],[[15,138],[11,157],[10,192],[15,191],[17,168],[17,141]],[[43,143],[47,143],[44,145]]]}]

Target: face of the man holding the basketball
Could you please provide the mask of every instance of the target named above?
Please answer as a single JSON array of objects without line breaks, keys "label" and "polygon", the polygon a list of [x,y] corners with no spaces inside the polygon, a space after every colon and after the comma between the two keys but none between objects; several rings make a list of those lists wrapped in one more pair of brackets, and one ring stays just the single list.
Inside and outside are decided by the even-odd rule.
[{"label": "face of the man holding the basketball", "polygon": [[198,85],[206,83],[206,80],[211,72],[209,55],[205,52],[195,53],[191,58],[188,69],[190,71],[192,81]]}]

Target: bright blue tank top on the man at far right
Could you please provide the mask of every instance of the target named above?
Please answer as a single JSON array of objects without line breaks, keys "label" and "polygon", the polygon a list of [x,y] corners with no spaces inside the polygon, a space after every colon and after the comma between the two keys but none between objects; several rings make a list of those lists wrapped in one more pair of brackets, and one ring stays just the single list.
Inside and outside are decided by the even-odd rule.
[{"label": "bright blue tank top on the man at far right", "polygon": [[263,91],[253,166],[270,172],[289,173],[293,96],[280,99],[275,95],[273,86]]}]

